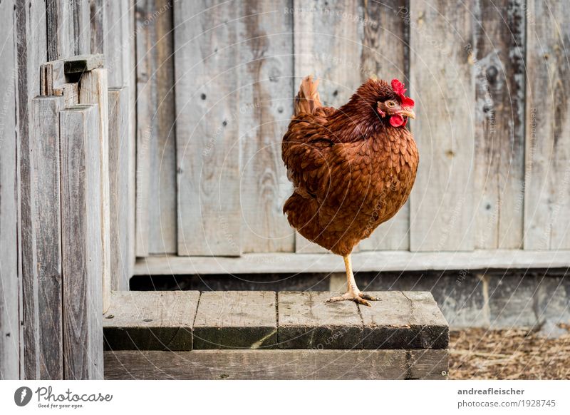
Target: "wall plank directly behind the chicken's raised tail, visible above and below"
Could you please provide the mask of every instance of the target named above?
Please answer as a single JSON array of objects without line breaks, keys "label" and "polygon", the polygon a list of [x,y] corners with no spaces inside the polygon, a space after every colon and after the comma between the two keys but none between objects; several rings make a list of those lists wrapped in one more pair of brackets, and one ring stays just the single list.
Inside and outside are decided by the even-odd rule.
[{"label": "wall plank directly behind the chicken's raised tail, visible above and below", "polygon": [[[321,78],[318,91],[324,105],[342,106],[361,85],[363,25],[358,21],[358,0],[318,0],[311,6],[294,0],[290,12],[294,14],[294,89],[313,74]],[[328,252],[297,232],[295,250]]]}]

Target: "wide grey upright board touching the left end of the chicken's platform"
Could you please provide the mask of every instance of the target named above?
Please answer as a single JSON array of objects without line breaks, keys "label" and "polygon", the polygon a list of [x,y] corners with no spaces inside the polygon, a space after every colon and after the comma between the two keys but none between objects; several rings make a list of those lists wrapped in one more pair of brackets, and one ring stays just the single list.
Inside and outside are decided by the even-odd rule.
[{"label": "wide grey upright board touching the left end of the chicken's platform", "polygon": [[103,377],[101,147],[97,106],[60,112],[63,353],[66,379]]}]

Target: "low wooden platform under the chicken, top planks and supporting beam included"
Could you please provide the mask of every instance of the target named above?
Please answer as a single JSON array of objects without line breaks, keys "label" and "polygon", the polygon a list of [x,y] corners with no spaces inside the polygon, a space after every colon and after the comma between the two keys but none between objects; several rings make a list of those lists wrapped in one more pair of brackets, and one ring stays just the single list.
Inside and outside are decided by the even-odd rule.
[{"label": "low wooden platform under the chicken, top planks and supporting beam included", "polygon": [[371,294],[363,307],[331,292],[116,292],[105,379],[445,379],[432,295]]}]

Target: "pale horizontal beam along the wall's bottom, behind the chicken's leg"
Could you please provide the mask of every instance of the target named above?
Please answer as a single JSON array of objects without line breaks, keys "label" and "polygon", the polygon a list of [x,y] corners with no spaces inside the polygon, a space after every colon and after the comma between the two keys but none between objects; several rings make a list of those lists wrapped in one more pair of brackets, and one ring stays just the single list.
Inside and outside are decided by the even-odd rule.
[{"label": "pale horizontal beam along the wall's bottom, behind the chicken's leg", "polygon": [[[375,251],[353,254],[356,272],[486,270],[570,267],[570,250],[475,250],[471,252]],[[244,274],[267,272],[344,272],[340,257],[330,254],[269,253],[241,257],[139,258],[135,275]]]}]

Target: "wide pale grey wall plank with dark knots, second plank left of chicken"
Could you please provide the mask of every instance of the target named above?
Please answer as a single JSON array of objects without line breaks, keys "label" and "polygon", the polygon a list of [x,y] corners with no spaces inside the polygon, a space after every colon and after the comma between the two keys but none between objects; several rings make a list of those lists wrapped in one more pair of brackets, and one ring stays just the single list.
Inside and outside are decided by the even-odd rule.
[{"label": "wide pale grey wall plank with dark knots, second plank left of chicken", "polygon": [[239,255],[237,7],[175,3],[179,255]]}]

